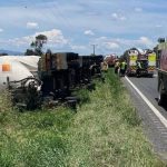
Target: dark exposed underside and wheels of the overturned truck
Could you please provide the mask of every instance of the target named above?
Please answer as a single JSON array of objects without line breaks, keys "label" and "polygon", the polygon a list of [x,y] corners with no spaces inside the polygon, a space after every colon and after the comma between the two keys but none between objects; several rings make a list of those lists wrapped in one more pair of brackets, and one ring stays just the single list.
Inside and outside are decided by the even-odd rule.
[{"label": "dark exposed underside and wheels of the overturned truck", "polygon": [[[102,56],[79,56],[75,52],[47,52],[38,61],[38,75],[17,81],[9,81],[13,102],[32,110],[43,102],[66,102],[75,107],[79,100],[71,96],[76,88],[91,84],[94,77],[101,77]],[[20,87],[13,89],[13,85]]]}]

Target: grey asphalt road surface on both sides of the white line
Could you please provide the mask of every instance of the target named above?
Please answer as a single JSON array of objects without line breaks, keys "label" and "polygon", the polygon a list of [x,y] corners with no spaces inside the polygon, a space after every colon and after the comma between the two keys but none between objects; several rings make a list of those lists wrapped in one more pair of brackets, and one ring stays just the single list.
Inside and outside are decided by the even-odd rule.
[{"label": "grey asphalt road surface on both sides of the white line", "polygon": [[[136,78],[128,77],[128,79],[141,91],[141,94],[154,105],[156,109],[167,119],[167,107],[159,107],[157,105],[157,76],[154,78]],[[132,105],[137,108],[139,117],[143,120],[144,131],[153,144],[154,150],[165,160],[167,160],[167,128],[161,124],[159,118],[141,99],[138,92],[131,87],[126,78],[122,81],[130,92]]]}]

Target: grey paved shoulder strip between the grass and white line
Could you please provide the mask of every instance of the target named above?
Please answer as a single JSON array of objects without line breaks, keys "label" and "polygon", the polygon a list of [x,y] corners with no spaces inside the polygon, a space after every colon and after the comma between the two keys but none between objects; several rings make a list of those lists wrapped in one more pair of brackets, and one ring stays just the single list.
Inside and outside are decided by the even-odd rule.
[{"label": "grey paved shoulder strip between the grass and white line", "polygon": [[160,122],[138,92],[129,85],[126,78],[122,78],[122,81],[130,95],[131,102],[143,120],[144,132],[151,143],[155,153],[164,160],[167,160],[167,128]]}]

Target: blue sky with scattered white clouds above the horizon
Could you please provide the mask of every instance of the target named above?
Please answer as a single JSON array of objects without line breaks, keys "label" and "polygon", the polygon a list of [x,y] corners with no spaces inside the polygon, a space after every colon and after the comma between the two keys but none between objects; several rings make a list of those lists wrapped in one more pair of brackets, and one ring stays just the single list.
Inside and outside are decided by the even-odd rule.
[{"label": "blue sky with scattered white clouds above the horizon", "polygon": [[0,0],[0,49],[24,52],[45,35],[43,51],[122,55],[167,37],[167,0]]}]

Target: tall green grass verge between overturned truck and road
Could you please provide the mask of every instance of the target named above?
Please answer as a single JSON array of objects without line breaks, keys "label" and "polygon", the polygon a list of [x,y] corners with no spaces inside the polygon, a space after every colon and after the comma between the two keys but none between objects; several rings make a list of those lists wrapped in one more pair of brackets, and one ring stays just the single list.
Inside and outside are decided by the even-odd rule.
[{"label": "tall green grass verge between overturned truck and road", "polygon": [[[112,70],[72,110],[19,112],[0,98],[0,167],[165,167]],[[2,97],[2,95],[1,95]]]}]

